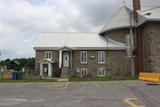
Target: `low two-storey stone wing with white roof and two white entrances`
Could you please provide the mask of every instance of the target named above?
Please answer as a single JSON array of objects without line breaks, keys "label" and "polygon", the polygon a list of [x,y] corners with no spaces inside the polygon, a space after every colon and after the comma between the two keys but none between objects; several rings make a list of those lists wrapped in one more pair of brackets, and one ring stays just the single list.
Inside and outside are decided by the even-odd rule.
[{"label": "low two-storey stone wing with white roof and two white entrances", "polygon": [[41,76],[125,75],[125,44],[96,33],[42,33],[36,46]]}]

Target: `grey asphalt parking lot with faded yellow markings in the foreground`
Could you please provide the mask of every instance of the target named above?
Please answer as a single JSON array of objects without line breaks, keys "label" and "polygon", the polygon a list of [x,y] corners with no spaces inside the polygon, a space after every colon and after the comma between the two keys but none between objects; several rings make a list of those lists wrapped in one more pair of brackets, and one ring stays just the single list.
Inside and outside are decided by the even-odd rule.
[{"label": "grey asphalt parking lot with faded yellow markings in the foreground", "polygon": [[0,83],[0,107],[160,107],[143,81]]}]

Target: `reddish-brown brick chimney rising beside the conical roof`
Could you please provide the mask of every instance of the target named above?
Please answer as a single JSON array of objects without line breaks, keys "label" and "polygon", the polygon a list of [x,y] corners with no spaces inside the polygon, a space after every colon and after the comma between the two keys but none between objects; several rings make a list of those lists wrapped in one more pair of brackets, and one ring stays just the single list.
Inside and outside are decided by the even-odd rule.
[{"label": "reddish-brown brick chimney rising beside the conical roof", "polygon": [[136,22],[138,21],[137,10],[141,10],[140,0],[133,0],[133,16]]}]

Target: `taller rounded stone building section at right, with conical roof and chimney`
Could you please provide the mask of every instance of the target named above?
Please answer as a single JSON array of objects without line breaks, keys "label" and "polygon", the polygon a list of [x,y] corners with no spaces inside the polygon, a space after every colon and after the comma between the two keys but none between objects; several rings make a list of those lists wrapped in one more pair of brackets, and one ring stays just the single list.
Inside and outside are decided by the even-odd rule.
[{"label": "taller rounded stone building section at right, with conical roof and chimney", "polygon": [[103,37],[126,43],[133,38],[136,73],[160,72],[160,7],[142,9],[133,0],[133,9],[123,6],[99,32]]}]

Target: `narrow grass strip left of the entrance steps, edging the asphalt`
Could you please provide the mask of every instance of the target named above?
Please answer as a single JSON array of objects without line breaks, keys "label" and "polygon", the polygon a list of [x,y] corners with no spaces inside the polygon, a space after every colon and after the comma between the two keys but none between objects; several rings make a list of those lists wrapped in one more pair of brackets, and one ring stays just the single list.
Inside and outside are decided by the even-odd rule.
[{"label": "narrow grass strip left of the entrance steps, edging the asphalt", "polygon": [[37,80],[0,80],[0,83],[15,83],[15,82],[57,82],[57,79],[37,79]]}]

